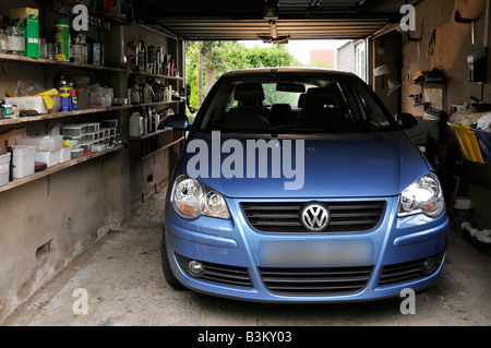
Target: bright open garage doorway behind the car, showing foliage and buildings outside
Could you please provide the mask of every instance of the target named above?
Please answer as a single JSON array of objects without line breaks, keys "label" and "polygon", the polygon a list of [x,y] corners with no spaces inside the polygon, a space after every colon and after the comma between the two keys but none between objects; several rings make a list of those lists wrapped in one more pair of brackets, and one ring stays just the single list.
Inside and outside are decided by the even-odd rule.
[{"label": "bright open garage doorway behind the car, showing foliage and buildings outside", "polygon": [[366,40],[187,41],[185,83],[189,113],[194,115],[207,93],[227,71],[253,68],[321,68],[350,72],[367,82]]}]

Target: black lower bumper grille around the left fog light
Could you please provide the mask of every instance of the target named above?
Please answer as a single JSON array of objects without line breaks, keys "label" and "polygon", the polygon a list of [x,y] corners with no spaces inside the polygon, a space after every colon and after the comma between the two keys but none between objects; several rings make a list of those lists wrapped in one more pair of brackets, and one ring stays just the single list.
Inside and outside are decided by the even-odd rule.
[{"label": "black lower bumper grille around the left fog light", "polygon": [[200,277],[195,277],[188,269],[188,264],[191,261],[190,259],[181,256],[179,254],[176,254],[176,259],[178,260],[181,269],[184,271],[189,276],[196,279],[232,287],[252,288],[251,277],[249,275],[248,268],[246,267],[237,267],[200,261],[204,265],[204,274]]}]

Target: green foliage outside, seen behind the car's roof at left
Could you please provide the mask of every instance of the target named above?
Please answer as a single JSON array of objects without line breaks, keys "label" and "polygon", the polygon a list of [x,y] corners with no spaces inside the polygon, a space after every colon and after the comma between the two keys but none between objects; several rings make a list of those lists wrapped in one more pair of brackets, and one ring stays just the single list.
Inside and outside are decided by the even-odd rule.
[{"label": "green foliage outside, seen behind the car's roof at left", "polygon": [[[275,68],[275,67],[302,67],[303,64],[294,58],[287,45],[272,45],[268,47],[248,48],[237,41],[188,41],[185,60],[185,83],[191,87],[190,105],[194,110],[200,106],[197,100],[199,83],[199,56],[202,57],[201,69],[203,71],[203,98],[205,91],[216,80],[227,71],[252,68]],[[209,74],[206,79],[206,74]],[[267,95],[267,93],[266,93]],[[291,96],[285,95],[286,98]],[[268,100],[265,100],[267,104]]]}]

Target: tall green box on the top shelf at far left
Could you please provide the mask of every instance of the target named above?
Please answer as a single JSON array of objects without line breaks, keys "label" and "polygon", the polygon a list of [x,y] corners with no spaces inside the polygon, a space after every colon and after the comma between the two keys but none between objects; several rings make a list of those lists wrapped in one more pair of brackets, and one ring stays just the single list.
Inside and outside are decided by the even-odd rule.
[{"label": "tall green box on the top shelf at far left", "polygon": [[22,22],[25,32],[25,56],[39,57],[39,10],[19,8],[10,10],[12,23]]}]

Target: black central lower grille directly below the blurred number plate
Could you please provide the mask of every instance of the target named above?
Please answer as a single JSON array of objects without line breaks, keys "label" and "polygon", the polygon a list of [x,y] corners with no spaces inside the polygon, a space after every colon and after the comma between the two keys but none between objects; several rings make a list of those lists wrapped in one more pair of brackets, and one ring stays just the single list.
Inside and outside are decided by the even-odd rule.
[{"label": "black central lower grille directly below the blurred number plate", "polygon": [[342,296],[362,291],[372,266],[328,268],[260,267],[266,288],[283,296]]}]

